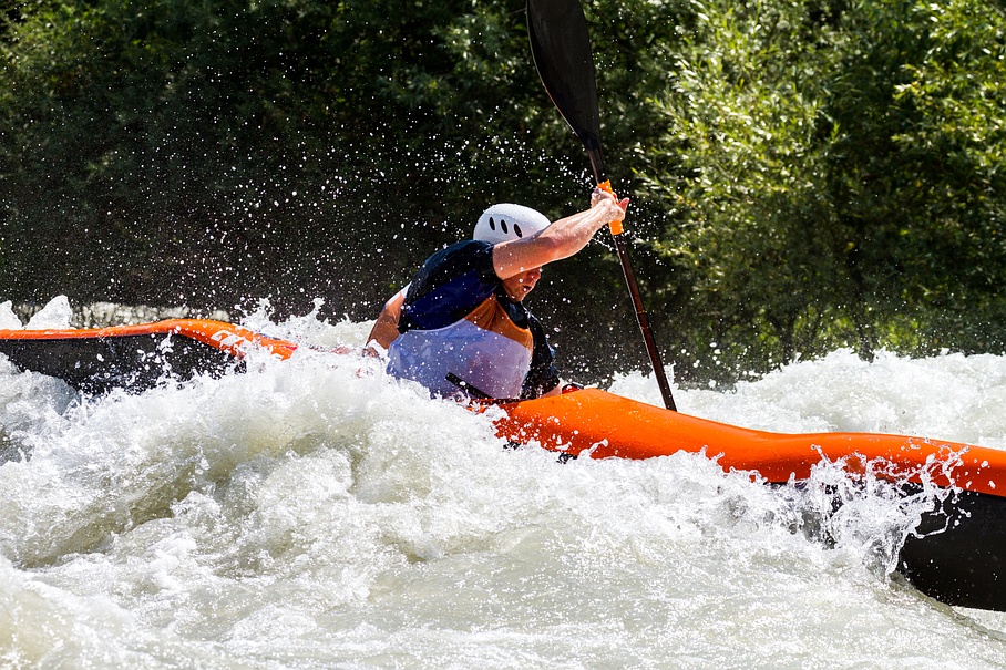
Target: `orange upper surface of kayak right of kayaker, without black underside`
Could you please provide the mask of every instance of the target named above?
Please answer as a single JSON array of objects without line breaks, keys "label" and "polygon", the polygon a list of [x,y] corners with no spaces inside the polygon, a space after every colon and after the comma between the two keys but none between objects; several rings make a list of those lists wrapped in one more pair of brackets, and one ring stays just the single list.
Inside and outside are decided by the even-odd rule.
[{"label": "orange upper surface of kayak right of kayaker, without black underside", "polygon": [[[862,471],[1006,496],[1006,452],[943,440],[873,433],[783,434],[671,412],[596,389],[503,405],[501,436],[593,458],[653,458],[701,452],[725,470],[754,471],[772,483],[805,480],[822,457]],[[875,465],[874,465],[875,466]]]}]

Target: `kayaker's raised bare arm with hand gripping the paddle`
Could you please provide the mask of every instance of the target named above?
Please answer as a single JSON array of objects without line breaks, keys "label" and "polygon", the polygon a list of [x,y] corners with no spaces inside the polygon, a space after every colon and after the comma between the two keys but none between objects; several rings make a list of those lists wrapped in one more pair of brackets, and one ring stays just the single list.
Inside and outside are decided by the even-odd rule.
[{"label": "kayaker's raised bare arm with hand gripping the paddle", "polygon": [[620,203],[610,193],[595,189],[591,208],[562,218],[541,233],[493,247],[493,268],[500,279],[540,268],[573,256],[591,241],[594,234],[612,221],[625,218],[628,198]]}]

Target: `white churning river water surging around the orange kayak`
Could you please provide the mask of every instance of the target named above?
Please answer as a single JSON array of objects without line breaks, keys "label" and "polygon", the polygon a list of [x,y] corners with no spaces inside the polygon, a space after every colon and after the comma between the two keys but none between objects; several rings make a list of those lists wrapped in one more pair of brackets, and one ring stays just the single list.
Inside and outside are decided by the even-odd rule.
[{"label": "white churning river water surging around the orange kayak", "polygon": [[[610,390],[659,403],[644,373]],[[838,351],[675,398],[1006,449],[1004,357]],[[0,357],[0,454],[4,668],[1006,668],[1006,615],[892,574],[922,503],[841,464],[781,489],[701,455],[561,464],[357,355],[99,399]]]}]

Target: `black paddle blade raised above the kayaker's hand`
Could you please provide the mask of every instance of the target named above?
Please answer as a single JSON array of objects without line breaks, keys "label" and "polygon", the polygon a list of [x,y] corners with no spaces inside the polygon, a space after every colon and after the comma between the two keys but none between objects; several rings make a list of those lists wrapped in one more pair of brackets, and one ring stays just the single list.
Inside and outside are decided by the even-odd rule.
[{"label": "black paddle blade raised above the kayaker's hand", "polygon": [[587,150],[594,181],[607,181],[600,156],[594,55],[579,0],[527,0],[527,32],[545,91]]}]

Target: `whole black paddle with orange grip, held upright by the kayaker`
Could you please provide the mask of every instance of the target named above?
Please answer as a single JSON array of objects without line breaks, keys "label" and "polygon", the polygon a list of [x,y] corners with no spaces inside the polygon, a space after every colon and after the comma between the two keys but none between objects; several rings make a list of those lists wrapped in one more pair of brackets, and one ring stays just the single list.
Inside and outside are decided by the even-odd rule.
[{"label": "whole black paddle with orange grip, held upright by the kayaker", "polygon": [[[545,91],[587,151],[595,183],[614,193],[600,155],[600,118],[597,113],[594,56],[587,34],[587,20],[579,0],[527,0],[527,32],[531,37],[531,53]],[[636,309],[636,320],[643,331],[660,395],[664,396],[664,405],[677,411],[625,248],[625,230],[620,221],[613,223],[610,228],[625,282]]]}]

